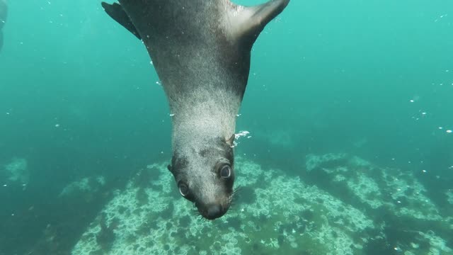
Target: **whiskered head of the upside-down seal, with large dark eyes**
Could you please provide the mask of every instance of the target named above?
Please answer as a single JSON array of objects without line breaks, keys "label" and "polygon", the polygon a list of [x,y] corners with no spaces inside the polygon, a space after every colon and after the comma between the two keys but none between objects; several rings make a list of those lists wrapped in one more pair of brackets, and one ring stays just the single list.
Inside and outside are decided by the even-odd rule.
[{"label": "whiskered head of the upside-down seal, with large dark eyes", "polygon": [[234,194],[234,135],[205,141],[184,153],[173,152],[168,170],[175,177],[181,196],[195,203],[208,220],[222,217]]}]

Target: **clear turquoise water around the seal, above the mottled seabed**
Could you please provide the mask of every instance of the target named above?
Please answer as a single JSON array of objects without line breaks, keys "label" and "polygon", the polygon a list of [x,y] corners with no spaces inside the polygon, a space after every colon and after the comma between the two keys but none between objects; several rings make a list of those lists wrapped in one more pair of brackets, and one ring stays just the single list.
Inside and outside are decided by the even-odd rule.
[{"label": "clear turquoise water around the seal, above the mottled seabed", "polygon": [[[306,155],[346,153],[411,173],[445,219],[431,230],[452,249],[453,202],[446,195],[453,188],[452,10],[446,0],[292,0],[253,47],[236,125],[251,138],[239,140],[236,155],[321,188],[374,215],[374,225],[380,212],[336,196],[328,177],[306,174]],[[98,1],[9,1],[3,31],[0,254],[69,254],[115,189],[125,190],[148,164],[171,159],[167,101],[144,45]],[[6,166],[21,159],[25,174],[11,178]],[[69,183],[91,176],[108,184],[60,196]],[[394,248],[415,242],[405,233],[427,232],[432,223],[382,217],[399,226],[385,232],[394,241],[386,254],[402,253]],[[327,252],[304,242],[310,250],[299,244],[287,252]],[[372,254],[372,244],[354,252]],[[109,254],[104,248],[101,254]]]}]

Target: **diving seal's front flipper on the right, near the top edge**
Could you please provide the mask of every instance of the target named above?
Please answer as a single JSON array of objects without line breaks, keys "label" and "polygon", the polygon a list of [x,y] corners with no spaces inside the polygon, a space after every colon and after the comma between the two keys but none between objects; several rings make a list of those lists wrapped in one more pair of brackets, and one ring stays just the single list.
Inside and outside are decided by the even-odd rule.
[{"label": "diving seal's front flipper on the right, near the top edge", "polygon": [[271,0],[258,6],[234,6],[229,14],[231,36],[252,47],[264,27],[288,5],[289,0]]}]

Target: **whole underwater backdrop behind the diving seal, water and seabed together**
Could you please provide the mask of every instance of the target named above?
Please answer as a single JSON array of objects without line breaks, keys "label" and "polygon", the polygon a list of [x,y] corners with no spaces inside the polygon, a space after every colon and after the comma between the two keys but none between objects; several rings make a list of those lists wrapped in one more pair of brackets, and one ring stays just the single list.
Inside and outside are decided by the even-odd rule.
[{"label": "whole underwater backdrop behind the diving seal, water and seabed together", "polygon": [[99,1],[8,1],[0,254],[453,254],[452,23],[447,0],[292,0],[253,47],[239,200],[203,222],[144,45]]}]

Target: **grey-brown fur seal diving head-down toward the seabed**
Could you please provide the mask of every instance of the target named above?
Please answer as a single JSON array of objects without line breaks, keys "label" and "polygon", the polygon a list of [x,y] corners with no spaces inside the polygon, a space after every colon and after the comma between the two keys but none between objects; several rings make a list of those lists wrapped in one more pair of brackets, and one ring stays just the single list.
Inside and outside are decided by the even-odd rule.
[{"label": "grey-brown fur seal diving head-down toward the seabed", "polygon": [[168,170],[202,217],[221,217],[234,195],[232,147],[251,48],[289,0],[249,7],[229,0],[119,2],[102,6],[144,42],[170,104]]}]

